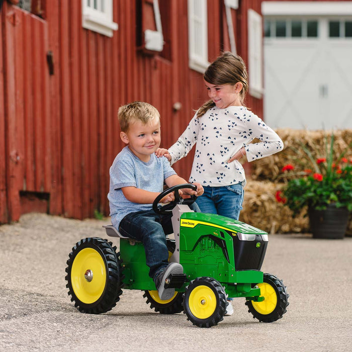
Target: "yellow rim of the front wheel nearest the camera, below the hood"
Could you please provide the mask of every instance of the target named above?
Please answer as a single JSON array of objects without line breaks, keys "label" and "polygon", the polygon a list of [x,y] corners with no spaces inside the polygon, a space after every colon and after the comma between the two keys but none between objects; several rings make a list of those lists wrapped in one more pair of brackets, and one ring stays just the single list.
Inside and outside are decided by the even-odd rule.
[{"label": "yellow rim of the front wheel nearest the camera, below the hood", "polygon": [[188,299],[191,313],[198,319],[207,319],[215,311],[216,296],[213,290],[204,285],[194,288]]}]

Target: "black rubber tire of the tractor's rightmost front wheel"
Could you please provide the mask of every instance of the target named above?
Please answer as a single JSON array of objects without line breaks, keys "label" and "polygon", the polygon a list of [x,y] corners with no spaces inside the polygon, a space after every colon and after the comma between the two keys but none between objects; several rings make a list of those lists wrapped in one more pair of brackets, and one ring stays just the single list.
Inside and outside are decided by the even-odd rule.
[{"label": "black rubber tire of the tractor's rightmost front wheel", "polygon": [[264,274],[263,282],[269,284],[277,295],[277,304],[272,312],[269,314],[259,313],[252,304],[252,301],[246,301],[245,305],[248,306],[248,312],[253,315],[253,318],[265,323],[271,323],[282,318],[286,313],[286,308],[289,305],[288,299],[290,295],[286,291],[286,286],[278,277],[272,274]]}]

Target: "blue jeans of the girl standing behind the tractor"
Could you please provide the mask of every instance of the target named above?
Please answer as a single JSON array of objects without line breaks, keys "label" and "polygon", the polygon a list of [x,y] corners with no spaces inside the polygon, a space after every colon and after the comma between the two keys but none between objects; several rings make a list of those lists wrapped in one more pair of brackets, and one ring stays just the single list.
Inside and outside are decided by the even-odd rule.
[{"label": "blue jeans of the girl standing behind the tractor", "polygon": [[244,190],[242,184],[231,186],[204,186],[204,194],[197,198],[202,213],[218,214],[238,220],[243,209]]}]

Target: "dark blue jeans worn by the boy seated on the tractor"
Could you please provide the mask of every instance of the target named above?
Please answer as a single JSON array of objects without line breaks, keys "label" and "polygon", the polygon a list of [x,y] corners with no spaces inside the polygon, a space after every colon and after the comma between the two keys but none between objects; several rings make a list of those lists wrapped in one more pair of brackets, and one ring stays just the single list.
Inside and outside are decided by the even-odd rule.
[{"label": "dark blue jeans worn by the boy seated on the tractor", "polygon": [[[190,205],[200,212],[196,203]],[[165,234],[172,233],[172,213],[156,214],[153,210],[127,214],[120,222],[119,232],[141,241],[144,245],[149,276],[155,278],[168,265],[168,249]]]}]

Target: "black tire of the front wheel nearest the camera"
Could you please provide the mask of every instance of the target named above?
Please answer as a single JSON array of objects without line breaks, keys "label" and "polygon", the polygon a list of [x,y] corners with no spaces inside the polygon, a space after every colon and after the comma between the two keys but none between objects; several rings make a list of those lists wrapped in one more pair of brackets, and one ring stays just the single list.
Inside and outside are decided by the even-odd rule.
[{"label": "black tire of the front wheel nearest the camera", "polygon": [[[194,305],[194,302],[190,304],[190,295],[193,290],[199,286],[207,286],[215,294],[216,306],[212,314],[205,318],[199,318],[194,315],[191,311],[191,307]],[[184,295],[184,313],[187,315],[187,320],[190,320],[193,325],[199,327],[212,327],[217,325],[219,321],[223,320],[225,311],[226,311],[226,293],[224,287],[215,279],[209,277],[201,277],[191,281],[190,285],[186,287]]]}]

